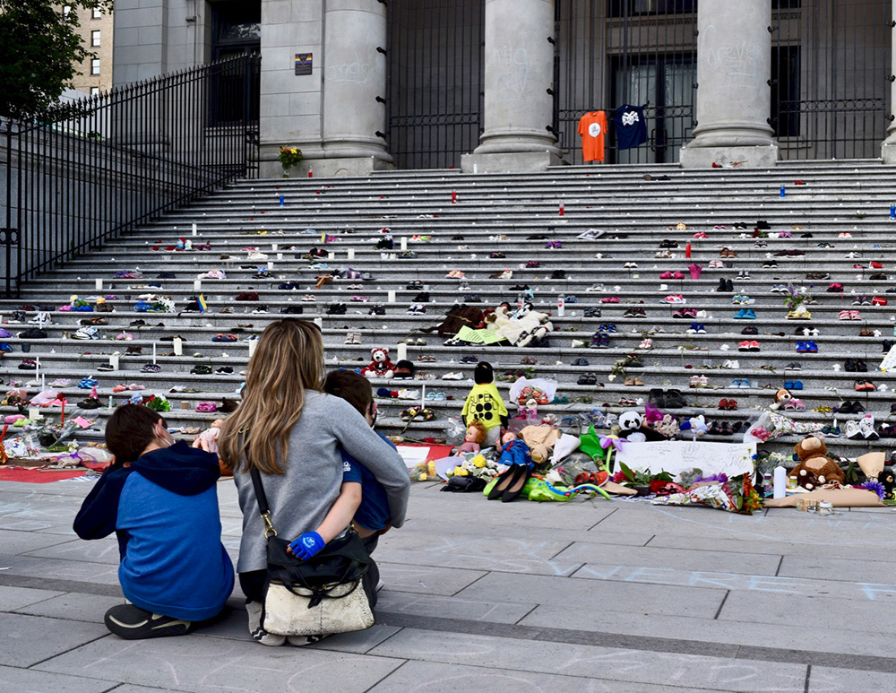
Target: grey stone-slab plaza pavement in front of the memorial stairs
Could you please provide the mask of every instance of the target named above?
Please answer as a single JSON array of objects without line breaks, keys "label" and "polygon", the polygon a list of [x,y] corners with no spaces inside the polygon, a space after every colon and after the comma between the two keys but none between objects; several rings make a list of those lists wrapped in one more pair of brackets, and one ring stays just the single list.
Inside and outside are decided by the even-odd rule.
[{"label": "grey stone-slab plaza pavement in front of the memorial stairs", "polygon": [[[0,483],[0,693],[892,691],[896,510],[487,502],[415,484],[380,542],[378,623],[305,648],[231,609],[127,642],[116,541],[71,524],[90,481]],[[224,541],[240,514],[220,483]]]}]

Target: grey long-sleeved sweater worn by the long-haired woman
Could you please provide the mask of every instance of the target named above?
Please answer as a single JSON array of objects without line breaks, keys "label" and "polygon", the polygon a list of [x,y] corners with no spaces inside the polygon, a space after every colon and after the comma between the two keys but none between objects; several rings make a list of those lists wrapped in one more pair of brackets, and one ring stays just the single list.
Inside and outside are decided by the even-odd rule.
[{"label": "grey long-sleeved sweater worn by the long-haired woman", "polygon": [[[289,541],[312,532],[336,502],[342,484],[340,447],[363,463],[383,484],[392,526],[404,524],[410,481],[401,455],[376,435],[363,416],[345,400],[308,392],[302,416],[289,432],[289,456],[283,474],[262,474],[271,507],[271,522]],[[267,567],[264,525],[248,472],[234,474],[243,511],[243,538],[237,572]]]}]

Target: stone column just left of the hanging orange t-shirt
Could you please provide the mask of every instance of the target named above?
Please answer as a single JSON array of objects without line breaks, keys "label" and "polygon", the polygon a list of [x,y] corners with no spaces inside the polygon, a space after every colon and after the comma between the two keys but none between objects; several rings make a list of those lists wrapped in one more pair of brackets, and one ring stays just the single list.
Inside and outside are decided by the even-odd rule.
[{"label": "stone column just left of the hanging orange t-shirt", "polygon": [[485,132],[461,159],[470,172],[544,170],[560,162],[548,89],[554,0],[486,0]]}]

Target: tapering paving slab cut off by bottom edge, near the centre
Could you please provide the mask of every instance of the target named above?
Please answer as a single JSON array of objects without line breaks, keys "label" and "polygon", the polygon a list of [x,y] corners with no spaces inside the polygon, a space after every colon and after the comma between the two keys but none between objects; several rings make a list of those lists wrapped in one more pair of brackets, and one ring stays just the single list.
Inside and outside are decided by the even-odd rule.
[{"label": "tapering paving slab cut off by bottom edge, near the centre", "polygon": [[[487,690],[489,693],[520,693],[520,691],[549,690],[551,693],[631,693],[630,683],[603,680],[599,677],[558,676],[503,669],[494,664],[471,667],[452,664],[448,670],[443,665],[426,662],[409,662],[398,671],[378,683],[376,693],[405,693],[409,690],[426,693],[455,693],[459,690]],[[688,689],[676,686],[639,685],[639,693],[711,693],[718,689]]]}]

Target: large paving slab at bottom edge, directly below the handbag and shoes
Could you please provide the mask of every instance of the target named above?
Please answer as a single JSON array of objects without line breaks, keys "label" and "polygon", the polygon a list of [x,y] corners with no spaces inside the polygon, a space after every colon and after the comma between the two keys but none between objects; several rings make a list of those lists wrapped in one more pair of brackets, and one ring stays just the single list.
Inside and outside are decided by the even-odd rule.
[{"label": "large paving slab at bottom edge, directly below the handbag and shoes", "polygon": [[[105,628],[104,628],[105,630]],[[160,689],[365,691],[402,660],[216,637],[160,637],[127,641],[105,637],[35,667]]]}]

